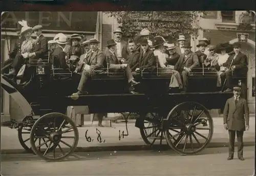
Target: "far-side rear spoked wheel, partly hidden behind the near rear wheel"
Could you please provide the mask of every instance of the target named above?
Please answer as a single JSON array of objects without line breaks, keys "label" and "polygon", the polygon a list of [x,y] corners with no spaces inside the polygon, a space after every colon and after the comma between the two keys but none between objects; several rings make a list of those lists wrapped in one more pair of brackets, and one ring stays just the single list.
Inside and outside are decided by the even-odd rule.
[{"label": "far-side rear spoked wheel, partly hidden behind the near rear wheel", "polygon": [[147,145],[153,145],[161,137],[161,121],[158,113],[140,114],[143,119],[143,126],[140,128],[140,135]]}]

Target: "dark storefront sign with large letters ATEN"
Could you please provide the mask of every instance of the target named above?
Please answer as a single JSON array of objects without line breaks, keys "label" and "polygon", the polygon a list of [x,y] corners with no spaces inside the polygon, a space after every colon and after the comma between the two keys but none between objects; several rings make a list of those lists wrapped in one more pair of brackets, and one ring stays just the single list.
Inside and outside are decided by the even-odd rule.
[{"label": "dark storefront sign with large letters ATEN", "polygon": [[7,12],[2,15],[1,27],[16,28],[26,20],[28,26],[42,25],[43,30],[96,32],[98,12]]}]

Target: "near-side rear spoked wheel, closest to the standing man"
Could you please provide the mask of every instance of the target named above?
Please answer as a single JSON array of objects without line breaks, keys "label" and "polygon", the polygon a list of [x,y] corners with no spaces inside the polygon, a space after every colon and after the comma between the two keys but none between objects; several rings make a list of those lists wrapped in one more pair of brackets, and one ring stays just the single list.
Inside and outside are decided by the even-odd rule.
[{"label": "near-side rear spoked wheel, closest to the standing man", "polygon": [[197,102],[176,105],[167,120],[165,139],[173,150],[182,155],[193,155],[203,150],[214,133],[209,111]]}]

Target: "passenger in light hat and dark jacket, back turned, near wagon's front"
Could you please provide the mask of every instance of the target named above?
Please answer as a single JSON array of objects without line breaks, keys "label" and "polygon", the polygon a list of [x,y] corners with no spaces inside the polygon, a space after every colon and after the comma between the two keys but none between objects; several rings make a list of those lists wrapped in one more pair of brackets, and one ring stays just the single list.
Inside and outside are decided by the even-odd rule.
[{"label": "passenger in light hat and dark jacket, back turned, near wagon's front", "polygon": [[64,52],[64,47],[68,43],[66,36],[61,36],[56,40],[58,43],[57,47],[54,49],[51,54],[53,65],[55,68],[67,69],[68,65],[66,63],[66,53]]}]

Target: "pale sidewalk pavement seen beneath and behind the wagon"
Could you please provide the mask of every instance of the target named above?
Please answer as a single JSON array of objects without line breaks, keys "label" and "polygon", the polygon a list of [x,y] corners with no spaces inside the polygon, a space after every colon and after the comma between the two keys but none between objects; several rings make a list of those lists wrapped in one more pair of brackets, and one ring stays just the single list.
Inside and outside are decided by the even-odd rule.
[{"label": "pale sidewalk pavement seen beneath and behind the wagon", "polygon": [[[213,118],[214,121],[214,135],[207,147],[227,147],[228,146],[228,132],[223,127],[222,118]],[[78,127],[79,130],[79,142],[77,145],[77,151],[102,151],[102,150],[144,150],[152,149],[146,145],[141,138],[139,128],[135,127],[134,120],[128,122],[127,127],[129,136],[124,136],[119,139],[119,130],[125,130],[125,123],[112,123],[112,127],[98,127],[97,121],[91,124],[91,122],[84,122],[84,126]],[[255,145],[255,118],[250,117],[250,128],[244,133],[244,146]],[[97,140],[96,128],[101,132],[101,139],[105,142],[99,143]],[[92,142],[88,142],[85,135],[93,139]],[[29,138],[29,134],[27,136]],[[26,144],[30,147],[29,141]],[[154,144],[158,147],[159,140]],[[168,148],[165,138],[163,139],[163,148]],[[237,145],[237,143],[236,143]],[[155,148],[153,147],[153,148]],[[17,130],[8,127],[1,127],[1,152],[2,153],[26,153],[25,149],[20,145],[17,136]]]}]

